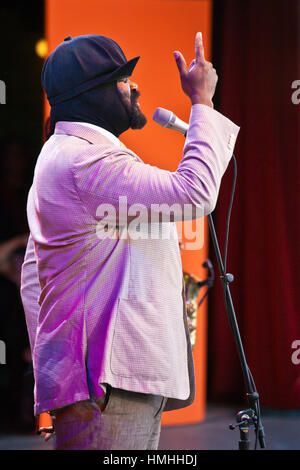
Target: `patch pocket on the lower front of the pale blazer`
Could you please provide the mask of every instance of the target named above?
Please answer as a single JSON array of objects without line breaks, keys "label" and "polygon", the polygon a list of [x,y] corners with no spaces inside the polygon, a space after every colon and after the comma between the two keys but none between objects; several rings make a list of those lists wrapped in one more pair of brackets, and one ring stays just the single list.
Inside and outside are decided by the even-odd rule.
[{"label": "patch pocket on the lower front of the pale blazer", "polygon": [[137,379],[167,380],[176,356],[167,316],[155,302],[119,299],[112,342],[111,370]]}]

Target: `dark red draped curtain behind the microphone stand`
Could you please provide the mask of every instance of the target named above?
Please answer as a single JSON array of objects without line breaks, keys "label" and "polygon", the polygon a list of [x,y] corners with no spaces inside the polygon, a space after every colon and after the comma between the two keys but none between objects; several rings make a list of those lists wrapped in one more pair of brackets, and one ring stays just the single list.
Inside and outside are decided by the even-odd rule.
[{"label": "dark red draped curtain behind the microphone stand", "polygon": [[[300,2],[222,0],[214,2],[214,14],[216,108],[241,127],[227,262],[235,276],[231,294],[261,404],[299,408],[292,344],[300,340],[300,104],[292,102],[292,83],[300,80]],[[222,250],[232,177],[231,163],[213,213]],[[245,390],[212,260],[209,398],[237,402]]]}]

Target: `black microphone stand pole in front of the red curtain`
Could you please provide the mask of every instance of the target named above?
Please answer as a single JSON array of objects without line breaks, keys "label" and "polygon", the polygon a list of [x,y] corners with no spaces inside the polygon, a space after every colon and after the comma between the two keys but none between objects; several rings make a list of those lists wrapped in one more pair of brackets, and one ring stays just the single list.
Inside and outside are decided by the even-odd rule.
[{"label": "black microphone stand pole in front of the red curtain", "polygon": [[244,348],[242,344],[242,340],[240,337],[239,327],[237,324],[234,306],[230,294],[229,284],[233,281],[234,277],[232,274],[226,274],[224,271],[224,265],[219,249],[219,244],[217,240],[217,235],[213,223],[212,215],[208,215],[208,223],[211,238],[213,241],[214,249],[216,252],[220,272],[221,272],[221,281],[224,290],[224,303],[225,309],[227,312],[229,324],[233,333],[234,341],[237,346],[238,355],[242,367],[242,372],[244,376],[244,382],[247,390],[247,400],[249,404],[249,408],[246,410],[239,411],[236,415],[237,424],[230,425],[230,429],[235,429],[236,427],[240,430],[240,440],[239,440],[239,450],[249,450],[250,449],[250,440],[249,440],[249,428],[251,425],[255,426],[255,433],[256,433],[256,441],[259,440],[260,447],[262,449],[265,448],[265,435],[264,435],[264,428],[261,422],[260,417],[260,406],[259,406],[259,395],[256,391],[255,384],[250,372],[250,369],[246,362],[246,357],[244,353]]}]

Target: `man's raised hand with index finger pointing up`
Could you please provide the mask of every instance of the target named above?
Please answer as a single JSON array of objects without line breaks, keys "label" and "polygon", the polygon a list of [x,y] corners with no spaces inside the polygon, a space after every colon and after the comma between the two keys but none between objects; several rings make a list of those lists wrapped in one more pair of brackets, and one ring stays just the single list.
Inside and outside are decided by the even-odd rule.
[{"label": "man's raised hand with index finger pointing up", "polygon": [[174,57],[180,74],[181,86],[192,104],[205,104],[213,108],[212,98],[218,81],[213,65],[205,60],[202,33],[195,38],[195,59],[187,69],[181,52],[175,51]]}]

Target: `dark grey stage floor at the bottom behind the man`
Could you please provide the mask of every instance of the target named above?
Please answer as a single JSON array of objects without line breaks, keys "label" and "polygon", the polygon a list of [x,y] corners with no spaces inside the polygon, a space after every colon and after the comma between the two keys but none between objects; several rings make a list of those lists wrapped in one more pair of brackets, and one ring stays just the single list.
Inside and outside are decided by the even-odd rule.
[{"label": "dark grey stage floor at the bottom behind the man", "polygon": [[[245,406],[244,406],[245,408]],[[229,430],[235,423],[235,413],[242,406],[207,406],[206,419],[199,424],[163,426],[161,450],[235,450],[239,431]],[[262,410],[268,450],[300,450],[300,410]],[[250,436],[254,448],[254,432]],[[258,447],[259,448],[259,447]],[[53,441],[45,443],[40,436],[31,434],[0,434],[0,450],[52,450]]]}]

